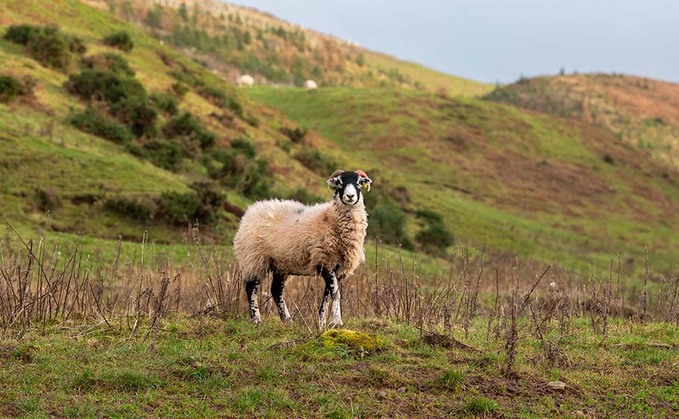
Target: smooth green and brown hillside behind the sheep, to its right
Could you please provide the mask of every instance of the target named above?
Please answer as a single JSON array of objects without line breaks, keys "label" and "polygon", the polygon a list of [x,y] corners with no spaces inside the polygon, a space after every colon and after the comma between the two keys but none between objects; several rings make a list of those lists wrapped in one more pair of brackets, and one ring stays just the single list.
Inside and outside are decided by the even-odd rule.
[{"label": "smooth green and brown hillside behind the sheep, to its right", "polygon": [[677,173],[603,130],[425,92],[249,94],[407,190],[409,212],[443,214],[460,243],[582,269],[616,252],[639,267],[645,243],[658,265],[676,261]]}]

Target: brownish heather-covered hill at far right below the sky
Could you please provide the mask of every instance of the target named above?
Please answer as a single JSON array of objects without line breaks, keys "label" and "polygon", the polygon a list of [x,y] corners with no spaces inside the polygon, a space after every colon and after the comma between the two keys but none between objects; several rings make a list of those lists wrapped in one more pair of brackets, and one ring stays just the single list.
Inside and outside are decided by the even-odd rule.
[{"label": "brownish heather-covered hill at far right below the sky", "polygon": [[563,75],[502,86],[488,99],[601,127],[679,165],[679,85],[614,74]]}]

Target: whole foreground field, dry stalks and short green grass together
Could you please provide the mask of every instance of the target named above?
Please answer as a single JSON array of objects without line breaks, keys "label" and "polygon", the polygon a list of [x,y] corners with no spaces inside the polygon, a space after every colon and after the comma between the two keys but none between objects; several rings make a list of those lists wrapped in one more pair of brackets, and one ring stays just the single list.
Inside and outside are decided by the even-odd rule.
[{"label": "whole foreground field, dry stalks and short green grass together", "polygon": [[645,303],[615,274],[465,257],[436,279],[383,260],[343,284],[344,328],[324,332],[314,278],[290,280],[293,323],[265,295],[256,326],[229,257],[192,251],[175,268],[3,248],[0,415],[679,414],[679,279]]}]

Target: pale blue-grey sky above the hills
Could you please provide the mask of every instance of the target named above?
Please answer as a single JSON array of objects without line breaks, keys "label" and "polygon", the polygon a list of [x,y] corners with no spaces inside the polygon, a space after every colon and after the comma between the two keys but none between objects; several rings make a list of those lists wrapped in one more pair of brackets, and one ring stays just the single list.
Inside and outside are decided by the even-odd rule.
[{"label": "pale blue-grey sky above the hills", "polygon": [[561,69],[679,82],[679,0],[230,0],[490,83]]}]

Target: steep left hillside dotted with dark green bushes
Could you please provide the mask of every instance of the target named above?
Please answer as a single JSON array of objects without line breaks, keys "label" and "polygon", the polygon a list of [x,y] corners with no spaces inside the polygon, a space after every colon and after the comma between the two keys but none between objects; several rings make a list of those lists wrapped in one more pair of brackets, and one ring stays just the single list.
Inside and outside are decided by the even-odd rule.
[{"label": "steep left hillside dotted with dark green bushes", "polygon": [[[45,231],[65,244],[84,240],[107,259],[119,239],[138,255],[131,243],[147,231],[154,253],[185,259],[196,219],[203,240],[228,246],[249,203],[325,200],[325,178],[353,161],[106,11],[35,0],[3,2],[0,12],[0,76],[20,91],[0,101],[0,199],[2,216],[26,238]],[[5,36],[25,24],[36,39]],[[121,31],[130,51],[104,41]],[[319,150],[335,157],[319,165]]]}]

